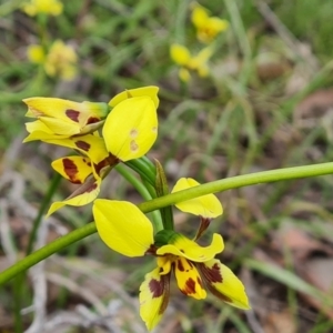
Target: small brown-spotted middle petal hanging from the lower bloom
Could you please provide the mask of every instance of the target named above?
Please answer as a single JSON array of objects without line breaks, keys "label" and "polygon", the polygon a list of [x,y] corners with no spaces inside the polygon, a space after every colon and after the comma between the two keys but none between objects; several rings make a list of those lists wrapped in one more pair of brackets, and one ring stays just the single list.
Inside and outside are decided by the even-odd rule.
[{"label": "small brown-spotted middle petal hanging from the lower bloom", "polygon": [[175,261],[174,273],[179,289],[188,296],[203,300],[206,292],[203,289],[202,280],[194,264],[184,258]]}]

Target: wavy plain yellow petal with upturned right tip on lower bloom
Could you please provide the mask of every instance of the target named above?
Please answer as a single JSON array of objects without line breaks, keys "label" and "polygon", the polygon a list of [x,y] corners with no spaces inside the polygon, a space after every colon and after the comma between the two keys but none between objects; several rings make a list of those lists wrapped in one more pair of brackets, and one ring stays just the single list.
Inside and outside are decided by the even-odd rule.
[{"label": "wavy plain yellow petal with upturned right tip on lower bloom", "polygon": [[158,249],[157,254],[174,254],[186,258],[194,262],[205,262],[213,259],[216,253],[224,249],[222,236],[218,233],[213,234],[212,243],[209,246],[200,246],[195,242],[189,240],[182,234],[175,234],[169,241],[169,244]]}]

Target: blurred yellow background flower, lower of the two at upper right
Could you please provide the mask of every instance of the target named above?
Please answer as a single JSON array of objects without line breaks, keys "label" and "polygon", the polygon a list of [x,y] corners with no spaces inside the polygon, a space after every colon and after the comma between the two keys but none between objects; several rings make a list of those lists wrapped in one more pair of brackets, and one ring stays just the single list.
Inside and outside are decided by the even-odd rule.
[{"label": "blurred yellow background flower, lower of the two at upper right", "polygon": [[196,56],[192,57],[189,49],[181,44],[172,44],[170,48],[171,59],[179,64],[179,78],[188,82],[191,78],[190,72],[194,71],[201,78],[209,75],[208,61],[213,54],[213,48],[208,47],[202,49]]}]

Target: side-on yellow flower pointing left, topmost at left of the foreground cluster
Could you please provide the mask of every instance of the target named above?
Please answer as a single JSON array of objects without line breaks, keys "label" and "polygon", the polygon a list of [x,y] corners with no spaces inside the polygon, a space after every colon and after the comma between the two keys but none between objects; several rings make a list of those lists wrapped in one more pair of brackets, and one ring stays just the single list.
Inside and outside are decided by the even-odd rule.
[{"label": "side-on yellow flower pointing left, topmost at left of the foreground cluster", "polygon": [[105,103],[73,102],[56,98],[29,98],[26,117],[37,118],[26,123],[30,133],[23,142],[48,139],[63,139],[95,131],[109,113]]}]

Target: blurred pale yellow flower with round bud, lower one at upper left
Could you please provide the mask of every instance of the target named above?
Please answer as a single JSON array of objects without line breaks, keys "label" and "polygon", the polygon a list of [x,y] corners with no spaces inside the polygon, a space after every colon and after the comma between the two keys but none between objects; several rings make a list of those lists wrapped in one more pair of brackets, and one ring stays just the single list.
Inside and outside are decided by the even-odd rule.
[{"label": "blurred pale yellow flower with round bud, lower one at upper left", "polygon": [[49,77],[72,80],[77,75],[78,56],[72,47],[61,40],[54,41],[48,53],[37,44],[30,46],[27,53],[31,62],[43,64]]}]

